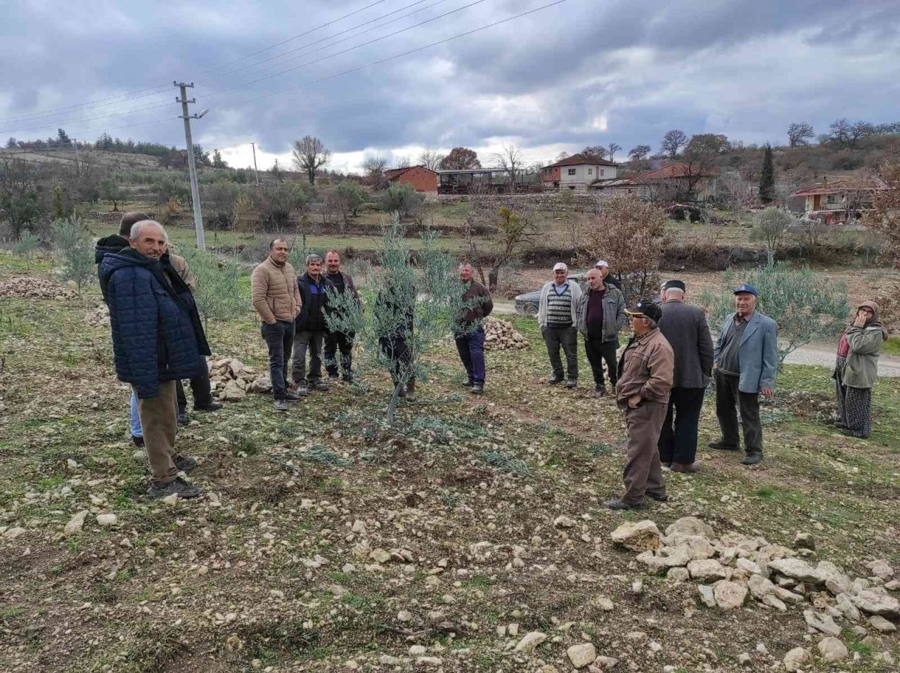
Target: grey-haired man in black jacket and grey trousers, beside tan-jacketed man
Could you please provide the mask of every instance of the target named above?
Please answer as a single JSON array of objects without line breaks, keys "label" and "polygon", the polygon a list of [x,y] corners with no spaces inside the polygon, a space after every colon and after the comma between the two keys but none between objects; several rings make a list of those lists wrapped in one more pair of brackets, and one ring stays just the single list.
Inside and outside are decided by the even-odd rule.
[{"label": "grey-haired man in black jacket and grey trousers, beside tan-jacketed man", "polygon": [[[322,342],[328,331],[325,322],[327,292],[333,287],[331,281],[322,274],[322,258],[318,255],[306,256],[306,273],[297,277],[300,290],[300,315],[294,320],[293,366],[291,375],[297,394],[304,396],[313,390],[329,390],[329,384],[322,381]],[[310,372],[306,372],[306,353],[310,352]]]}]

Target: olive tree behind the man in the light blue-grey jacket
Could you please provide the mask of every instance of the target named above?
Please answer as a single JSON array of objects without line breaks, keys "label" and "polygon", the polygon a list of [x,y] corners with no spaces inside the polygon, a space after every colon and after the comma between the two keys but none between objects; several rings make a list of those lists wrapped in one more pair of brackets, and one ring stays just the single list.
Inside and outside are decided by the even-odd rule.
[{"label": "olive tree behind the man in the light blue-grey jacket", "polygon": [[840,334],[850,316],[846,287],[841,283],[823,283],[808,268],[791,269],[777,264],[770,251],[765,266],[740,278],[729,271],[720,294],[704,294],[714,328],[734,312],[734,287],[739,283],[756,287],[760,292],[758,310],[779,325],[779,368],[788,354],[800,346]]}]

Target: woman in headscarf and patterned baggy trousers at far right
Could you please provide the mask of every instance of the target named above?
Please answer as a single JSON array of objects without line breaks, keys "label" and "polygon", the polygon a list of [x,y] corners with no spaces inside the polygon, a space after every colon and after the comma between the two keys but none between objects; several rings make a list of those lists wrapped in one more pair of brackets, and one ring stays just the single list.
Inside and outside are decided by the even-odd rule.
[{"label": "woman in headscarf and patterned baggy trousers at far right", "polygon": [[838,342],[833,379],[837,390],[838,419],[844,435],[865,439],[872,431],[872,386],[878,378],[878,354],[887,341],[887,329],[878,316],[878,304],[864,301]]}]

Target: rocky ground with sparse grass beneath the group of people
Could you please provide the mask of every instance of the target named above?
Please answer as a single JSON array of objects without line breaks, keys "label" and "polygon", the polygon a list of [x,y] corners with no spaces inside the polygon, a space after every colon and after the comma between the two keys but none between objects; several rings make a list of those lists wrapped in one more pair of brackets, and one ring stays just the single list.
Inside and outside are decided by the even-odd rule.
[{"label": "rocky ground with sparse grass beneath the group of people", "polygon": [[[0,283],[50,278],[6,259]],[[144,496],[96,288],[57,294],[0,299],[0,670],[898,668],[896,379],[852,440],[827,370],[789,365],[761,466],[701,450],[621,514],[621,414],[583,356],[579,389],[545,384],[532,319],[482,398],[441,345],[388,428],[375,372],[275,416],[247,315],[210,328],[245,394],[178,436],[207,495],[169,504]]]}]

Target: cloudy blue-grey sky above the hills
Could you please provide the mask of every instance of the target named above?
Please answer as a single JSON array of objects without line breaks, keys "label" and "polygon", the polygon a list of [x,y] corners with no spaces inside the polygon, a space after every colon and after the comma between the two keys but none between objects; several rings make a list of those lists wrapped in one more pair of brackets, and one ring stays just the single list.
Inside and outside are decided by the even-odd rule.
[{"label": "cloudy blue-grey sky above the hills", "polygon": [[553,2],[6,0],[0,139],[183,147],[175,79],[210,109],[194,139],[232,166],[255,141],[261,168],[305,134],[347,171],[425,147],[490,165],[514,143],[530,163],[656,151],[670,129],[761,143],[792,121],[900,121],[898,0]]}]

